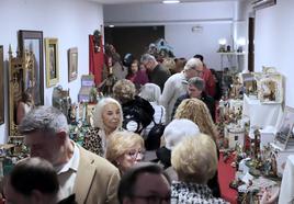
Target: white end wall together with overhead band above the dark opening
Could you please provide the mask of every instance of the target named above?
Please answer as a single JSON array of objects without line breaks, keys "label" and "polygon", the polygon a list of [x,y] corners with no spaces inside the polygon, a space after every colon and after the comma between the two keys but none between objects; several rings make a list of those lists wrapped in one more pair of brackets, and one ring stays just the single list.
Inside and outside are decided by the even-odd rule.
[{"label": "white end wall together with overhead band above the dark opening", "polygon": [[[105,5],[104,24],[165,25],[166,39],[177,57],[203,54],[208,67],[220,69],[220,57],[216,54],[218,39],[226,37],[231,45],[235,9],[231,1]],[[196,25],[203,31],[192,32]]]}]

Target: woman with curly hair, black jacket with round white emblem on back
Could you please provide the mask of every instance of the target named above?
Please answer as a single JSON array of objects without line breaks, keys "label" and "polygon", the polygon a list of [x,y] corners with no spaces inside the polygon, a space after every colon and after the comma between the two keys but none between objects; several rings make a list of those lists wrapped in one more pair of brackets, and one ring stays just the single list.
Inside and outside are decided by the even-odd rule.
[{"label": "woman with curly hair, black jacket with round white emblem on back", "polygon": [[154,107],[148,101],[136,95],[134,83],[127,79],[121,79],[114,84],[113,95],[123,107],[123,127],[140,134],[152,121]]}]

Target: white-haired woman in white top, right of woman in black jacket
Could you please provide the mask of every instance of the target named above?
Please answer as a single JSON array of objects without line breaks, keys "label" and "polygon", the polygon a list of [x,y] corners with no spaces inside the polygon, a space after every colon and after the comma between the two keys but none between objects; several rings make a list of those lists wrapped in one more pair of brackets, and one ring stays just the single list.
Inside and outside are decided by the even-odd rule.
[{"label": "white-haired woman in white top, right of woman in black jacket", "polygon": [[149,101],[155,110],[152,122],[143,132],[143,136],[146,138],[149,131],[154,127],[155,123],[166,123],[166,109],[162,105],[159,105],[160,88],[155,83],[146,83],[143,86],[139,97]]}]

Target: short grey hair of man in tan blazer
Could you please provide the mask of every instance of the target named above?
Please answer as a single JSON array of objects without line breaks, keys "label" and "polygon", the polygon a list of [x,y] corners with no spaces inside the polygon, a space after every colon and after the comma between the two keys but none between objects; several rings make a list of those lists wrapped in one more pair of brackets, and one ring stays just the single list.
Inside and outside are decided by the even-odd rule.
[{"label": "short grey hair of man in tan blazer", "polygon": [[66,132],[69,135],[67,118],[61,111],[54,106],[37,106],[30,111],[19,125],[21,134],[34,132],[57,134]]}]

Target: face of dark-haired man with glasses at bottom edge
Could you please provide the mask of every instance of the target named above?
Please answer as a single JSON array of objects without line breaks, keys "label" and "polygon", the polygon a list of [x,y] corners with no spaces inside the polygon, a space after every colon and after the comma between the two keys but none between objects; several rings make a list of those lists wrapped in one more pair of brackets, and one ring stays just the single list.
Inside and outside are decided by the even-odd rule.
[{"label": "face of dark-haired man with glasses at bottom edge", "polygon": [[124,204],[168,204],[170,203],[170,184],[162,174],[139,174],[133,197],[125,199]]}]

